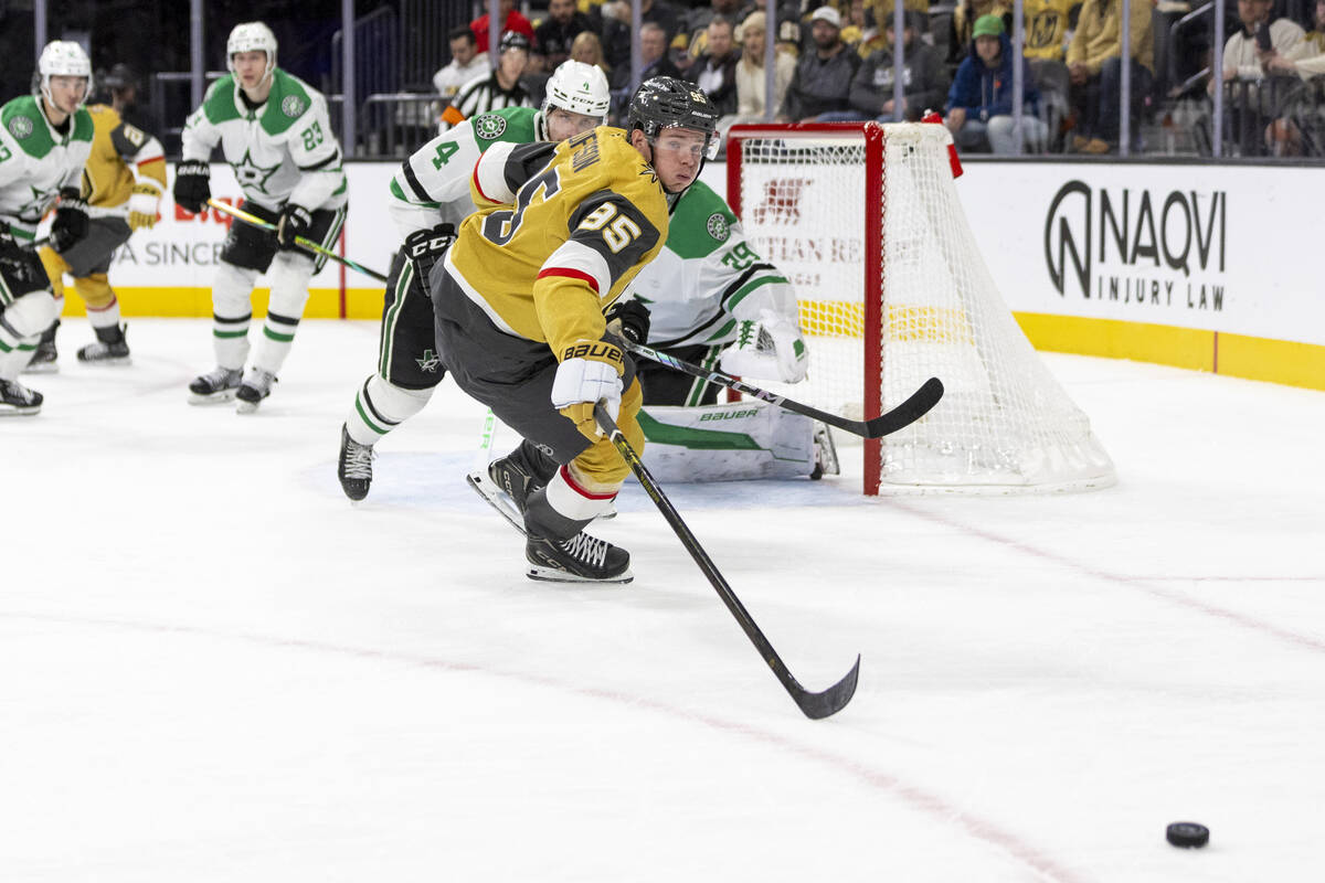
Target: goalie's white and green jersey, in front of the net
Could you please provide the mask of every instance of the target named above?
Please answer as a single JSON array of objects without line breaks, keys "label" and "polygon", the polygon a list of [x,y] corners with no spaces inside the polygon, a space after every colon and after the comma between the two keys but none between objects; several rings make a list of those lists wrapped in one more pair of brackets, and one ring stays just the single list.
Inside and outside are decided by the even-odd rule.
[{"label": "goalie's white and green jersey, in front of the net", "polygon": [[746,244],[737,216],[704,181],[676,201],[666,245],[627,297],[649,308],[652,347],[729,343],[737,319],[758,319],[762,310],[799,320],[786,277]]}]

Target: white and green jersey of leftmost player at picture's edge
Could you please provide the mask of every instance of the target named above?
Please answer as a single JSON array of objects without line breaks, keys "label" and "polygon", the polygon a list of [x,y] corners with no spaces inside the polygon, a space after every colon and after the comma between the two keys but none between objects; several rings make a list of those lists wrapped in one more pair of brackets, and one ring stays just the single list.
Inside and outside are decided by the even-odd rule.
[{"label": "white and green jersey of leftmost player at picture's edge", "polygon": [[82,187],[91,152],[91,115],[80,107],[61,135],[33,95],[0,107],[0,220],[19,238],[33,238],[62,187]]}]

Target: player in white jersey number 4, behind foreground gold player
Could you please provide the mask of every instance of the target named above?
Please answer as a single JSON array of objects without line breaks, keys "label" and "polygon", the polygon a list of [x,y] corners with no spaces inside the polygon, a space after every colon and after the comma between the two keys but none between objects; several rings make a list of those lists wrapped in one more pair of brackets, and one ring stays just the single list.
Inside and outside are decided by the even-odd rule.
[{"label": "player in white jersey number 4, behind foreground gold player", "polygon": [[602,126],[610,103],[600,69],[566,61],[547,81],[542,110],[504,107],[480,114],[401,163],[391,181],[390,207],[405,245],[387,279],[378,369],[359,387],[341,430],[337,474],[350,499],[368,494],[372,446],[419,413],[445,373],[437,360],[432,301],[407,259],[409,246],[454,236],[454,228],[474,210],[469,179],[489,147],[566,140]]}]

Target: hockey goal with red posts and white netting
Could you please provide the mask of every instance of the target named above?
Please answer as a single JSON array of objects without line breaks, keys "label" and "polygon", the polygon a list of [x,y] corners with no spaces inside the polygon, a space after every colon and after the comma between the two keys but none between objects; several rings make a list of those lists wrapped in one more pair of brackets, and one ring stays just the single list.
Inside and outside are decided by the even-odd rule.
[{"label": "hockey goal with red posts and white netting", "polygon": [[808,379],[784,395],[856,420],[928,377],[925,418],[865,442],[864,490],[1018,492],[1114,482],[966,224],[943,126],[735,126],[727,200],[800,299]]}]

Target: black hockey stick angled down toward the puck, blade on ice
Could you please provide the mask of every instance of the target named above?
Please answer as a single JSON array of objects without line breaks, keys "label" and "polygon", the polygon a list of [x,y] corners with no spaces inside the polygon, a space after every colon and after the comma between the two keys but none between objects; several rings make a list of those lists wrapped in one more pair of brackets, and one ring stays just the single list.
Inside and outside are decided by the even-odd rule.
[{"label": "black hockey stick angled down toward the puck, blade on ice", "polygon": [[713,564],[713,559],[709,557],[708,552],[704,551],[704,547],[700,545],[700,540],[694,539],[694,534],[692,534],[690,528],[681,520],[681,515],[676,511],[676,507],[672,506],[672,502],[662,492],[662,488],[659,487],[656,481],[653,481],[653,475],[651,475],[649,470],[645,469],[640,455],[635,453],[633,447],[631,447],[631,442],[628,442],[625,436],[621,434],[621,430],[617,429],[616,422],[612,420],[611,414],[607,413],[607,408],[604,408],[602,402],[594,406],[594,417],[598,418],[598,425],[602,426],[603,432],[612,440],[612,445],[621,454],[621,459],[629,465],[631,471],[635,473],[635,478],[637,478],[640,485],[644,486],[644,491],[659,507],[659,511],[662,512],[662,518],[672,526],[677,539],[681,540],[681,545],[684,545],[685,551],[690,553],[694,563],[700,565],[704,576],[706,576],[713,588],[717,589],[718,597],[722,598],[725,605],[727,605],[727,610],[730,610],[731,616],[735,617],[737,624],[746,633],[746,637],[750,638],[750,642],[755,646],[755,650],[759,651],[759,655],[763,657],[763,661],[768,663],[770,669],[772,669],[774,676],[778,678],[778,682],[782,683],[783,688],[791,695],[792,702],[795,702],[800,711],[804,712],[806,718],[819,720],[820,718],[827,718],[845,708],[847,703],[851,702],[851,698],[856,694],[856,678],[860,676],[860,655],[856,655],[856,665],[851,667],[847,676],[823,692],[810,692],[802,687],[800,683],[791,676],[791,673],[787,671],[787,666],[782,662],[782,657],[778,655],[778,651],[772,649],[771,643],[768,643],[768,638],[766,638],[763,631],[759,630],[759,626],[755,625],[754,620],[750,617],[750,612],[741,604],[741,598],[735,596],[735,592],[731,590],[727,581],[722,579],[717,565]]}]

